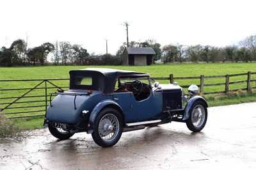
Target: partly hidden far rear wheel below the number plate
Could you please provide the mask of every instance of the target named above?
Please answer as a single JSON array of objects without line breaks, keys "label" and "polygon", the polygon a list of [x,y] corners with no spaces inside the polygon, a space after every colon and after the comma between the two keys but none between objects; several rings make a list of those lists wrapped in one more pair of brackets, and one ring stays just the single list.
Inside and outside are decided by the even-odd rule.
[{"label": "partly hidden far rear wheel below the number plate", "polygon": [[52,127],[52,124],[49,124],[48,128],[51,134],[60,140],[68,139],[74,135],[74,133],[70,133],[69,131],[63,130],[62,128]]}]

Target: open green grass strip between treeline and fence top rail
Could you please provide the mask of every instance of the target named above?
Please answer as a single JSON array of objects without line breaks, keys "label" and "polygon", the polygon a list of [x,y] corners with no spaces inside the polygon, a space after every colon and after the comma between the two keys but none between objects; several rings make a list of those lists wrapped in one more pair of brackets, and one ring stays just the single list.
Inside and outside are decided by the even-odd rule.
[{"label": "open green grass strip between treeline and fence top rail", "polygon": [[49,79],[68,78],[68,71],[88,67],[116,68],[150,73],[152,77],[175,77],[198,75],[225,75],[256,72],[256,63],[182,63],[151,66],[26,66],[0,67],[0,79]]}]

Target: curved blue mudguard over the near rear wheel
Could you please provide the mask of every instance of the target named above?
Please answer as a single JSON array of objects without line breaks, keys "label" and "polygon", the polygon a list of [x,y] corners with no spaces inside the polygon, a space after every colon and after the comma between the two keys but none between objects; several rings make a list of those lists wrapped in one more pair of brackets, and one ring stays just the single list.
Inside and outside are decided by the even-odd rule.
[{"label": "curved blue mudguard over the near rear wheel", "polygon": [[93,127],[94,127],[95,119],[97,118],[97,116],[98,116],[99,112],[102,110],[102,108],[106,107],[107,105],[115,105],[115,107],[118,107],[120,109],[120,111],[122,111],[122,113],[123,113],[122,108],[115,101],[102,100],[92,110],[92,113],[91,113],[90,119],[89,119],[90,127],[88,127],[87,134],[92,134],[93,129],[94,129]]}]

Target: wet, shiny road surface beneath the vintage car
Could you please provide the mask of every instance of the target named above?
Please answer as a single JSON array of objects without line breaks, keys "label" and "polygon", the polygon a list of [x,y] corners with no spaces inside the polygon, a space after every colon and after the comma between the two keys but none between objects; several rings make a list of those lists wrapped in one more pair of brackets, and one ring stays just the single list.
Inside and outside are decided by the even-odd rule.
[{"label": "wet, shiny road surface beneath the vintage car", "polygon": [[256,169],[256,103],[208,108],[202,132],[172,122],[122,134],[101,148],[86,133],[58,141],[47,129],[0,144],[0,169]]}]

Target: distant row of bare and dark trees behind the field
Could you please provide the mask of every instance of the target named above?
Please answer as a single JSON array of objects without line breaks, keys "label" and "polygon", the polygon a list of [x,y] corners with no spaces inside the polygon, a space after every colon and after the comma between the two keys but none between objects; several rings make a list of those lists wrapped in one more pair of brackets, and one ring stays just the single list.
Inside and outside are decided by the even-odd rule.
[{"label": "distant row of bare and dark trees behind the field", "polygon": [[[69,42],[47,42],[30,49],[28,42],[18,39],[9,48],[0,49],[0,66],[49,65],[49,58],[52,65],[122,65],[125,47],[127,43],[123,43],[116,54],[89,54],[81,45]],[[256,35],[226,47],[179,43],[161,47],[155,40],[129,42],[129,47],[152,47],[156,52],[154,61],[163,63],[256,61]]]}]

